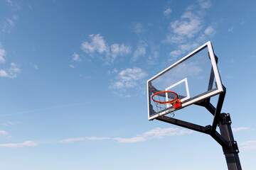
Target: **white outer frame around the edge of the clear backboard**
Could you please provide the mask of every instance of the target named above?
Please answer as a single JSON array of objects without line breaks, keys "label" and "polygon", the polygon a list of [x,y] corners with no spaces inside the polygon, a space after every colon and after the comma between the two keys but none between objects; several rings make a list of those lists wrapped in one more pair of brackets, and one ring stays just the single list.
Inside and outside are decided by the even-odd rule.
[{"label": "white outer frame around the edge of the clear backboard", "polygon": [[[149,98],[149,82],[153,81],[154,79],[160,77],[161,75],[163,75],[164,73],[168,72],[170,69],[176,67],[176,65],[180,64],[181,62],[188,60],[188,58],[192,57],[193,55],[196,55],[196,53],[200,52],[201,50],[205,49],[206,47],[208,47],[208,52],[209,52],[209,57],[210,57],[210,61],[213,67],[213,73],[215,76],[215,81],[216,81],[216,86],[217,89],[215,91],[211,91],[210,93],[206,93],[206,94],[202,94],[201,96],[199,96],[198,98],[193,98],[192,100],[188,101],[188,102],[184,102],[181,104],[181,108],[184,108],[186,106],[189,106],[193,103],[197,103],[198,101],[202,101],[206,98],[210,98],[211,96],[215,96],[217,94],[220,94],[223,92],[223,85],[220,79],[220,74],[218,72],[218,67],[217,67],[217,63],[215,61],[215,55],[213,52],[213,46],[211,44],[210,41],[206,42],[204,45],[201,45],[201,47],[198,47],[196,50],[194,50],[193,52],[189,53],[188,55],[186,55],[185,57],[181,58],[181,60],[178,60],[177,62],[175,62],[174,64],[172,64],[170,67],[167,67],[166,69],[164,69],[162,72],[160,72],[159,74],[156,74],[156,76],[152,77],[151,79],[149,79],[147,81],[147,98],[148,98],[148,119],[149,120],[153,120],[161,115],[165,115],[166,111],[163,111],[161,113],[158,113],[156,115],[150,116],[150,104],[151,104],[151,98]],[[181,109],[179,108],[179,109]]]}]

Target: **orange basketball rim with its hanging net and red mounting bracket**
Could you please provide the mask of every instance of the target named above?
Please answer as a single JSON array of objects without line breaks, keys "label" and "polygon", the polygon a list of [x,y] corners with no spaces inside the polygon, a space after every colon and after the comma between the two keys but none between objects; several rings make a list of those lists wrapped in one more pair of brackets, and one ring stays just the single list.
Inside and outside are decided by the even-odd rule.
[{"label": "orange basketball rim with its hanging net and red mounting bracket", "polygon": [[[156,99],[156,96],[158,96],[158,99]],[[172,96],[172,97],[171,97]],[[174,97],[176,96],[176,97]],[[162,113],[162,112],[166,112],[166,113],[171,113],[171,106],[172,108],[174,108],[174,110],[172,111],[171,115],[172,117],[174,117],[174,111],[177,108],[181,108],[181,100],[178,99],[178,94],[176,94],[174,91],[159,91],[156,94],[153,94],[153,96],[151,96],[152,100],[154,101],[155,105],[156,105],[156,111],[157,113]],[[169,98],[173,98],[171,100],[169,100]],[[168,110],[168,108],[170,108]]]}]

